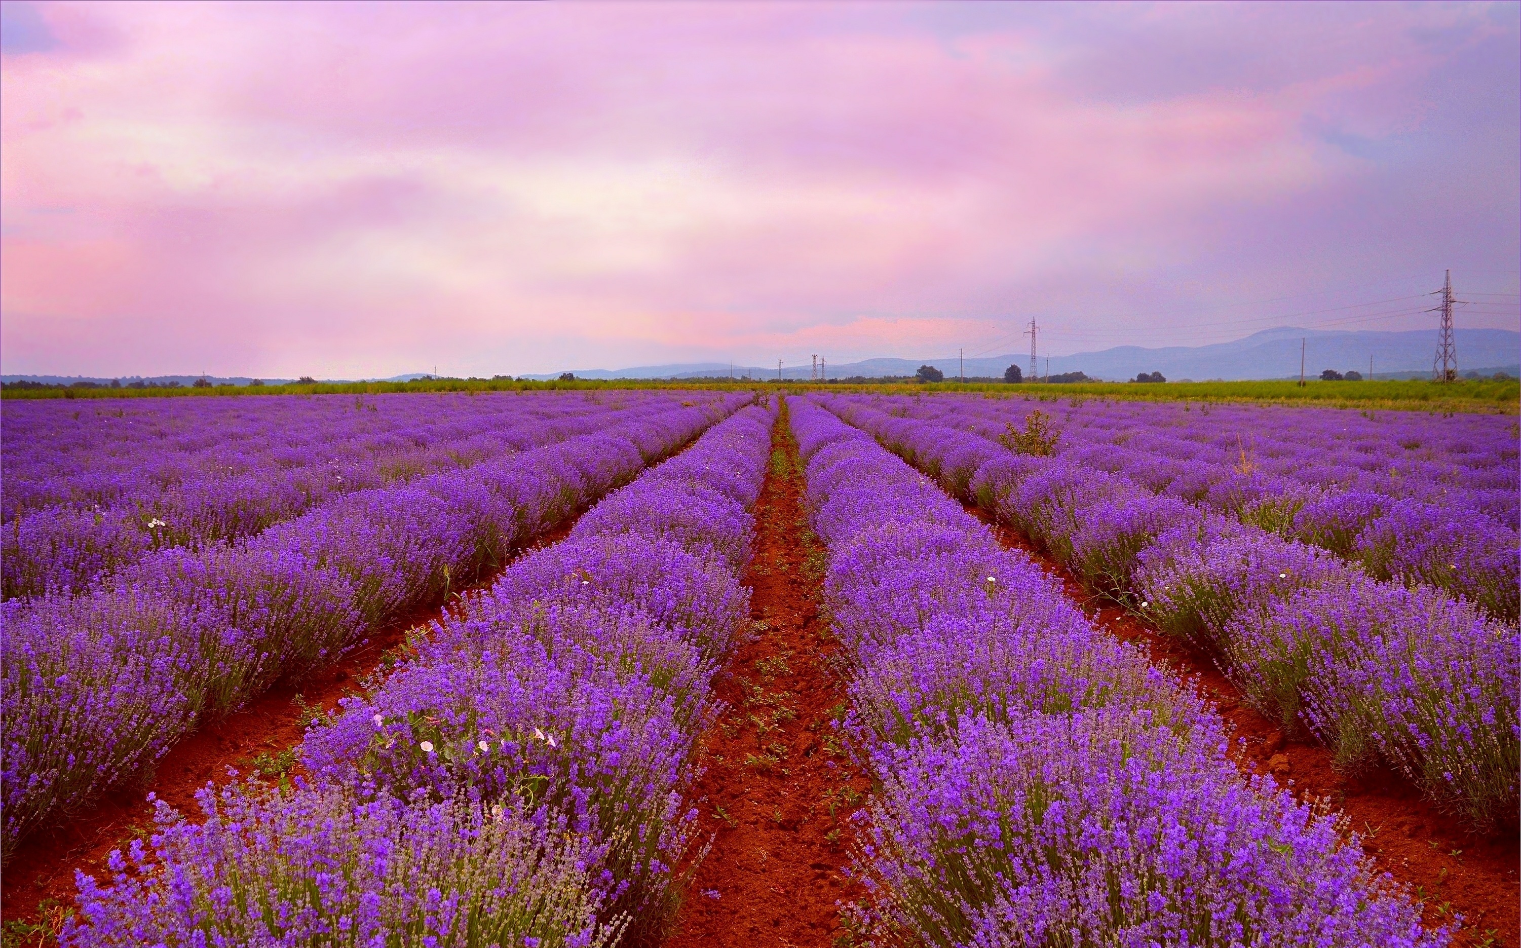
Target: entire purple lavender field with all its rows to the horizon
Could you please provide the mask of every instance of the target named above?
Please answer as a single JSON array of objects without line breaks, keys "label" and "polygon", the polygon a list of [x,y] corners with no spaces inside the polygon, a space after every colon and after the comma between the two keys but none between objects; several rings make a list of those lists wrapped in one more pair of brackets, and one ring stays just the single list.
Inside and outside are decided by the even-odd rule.
[{"label": "entire purple lavender field with all its rows to the horizon", "polygon": [[[1510,417],[818,391],[3,411],[12,864],[444,606],[278,779],[160,800],[81,866],[61,943],[657,945],[754,898],[691,883],[730,832],[802,846],[809,820],[858,887],[791,890],[838,902],[818,943],[1445,945],[1494,918],[1437,910],[1337,800],[1244,765],[1217,698],[1094,603],[1443,832],[1513,837]],[[771,616],[760,499],[788,478],[794,580],[840,648],[835,712],[791,744],[760,682],[797,656],[735,657]],[[747,733],[726,682],[745,761],[710,750]],[[852,794],[803,758],[870,790],[837,819]],[[733,819],[704,775],[788,779],[803,816]]]}]

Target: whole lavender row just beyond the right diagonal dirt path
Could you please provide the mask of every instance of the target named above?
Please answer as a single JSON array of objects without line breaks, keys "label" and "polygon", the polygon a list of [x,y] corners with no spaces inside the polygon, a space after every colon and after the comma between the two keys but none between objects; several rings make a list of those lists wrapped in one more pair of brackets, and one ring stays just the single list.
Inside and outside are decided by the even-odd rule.
[{"label": "whole lavender row just beyond the right diagonal dirt path", "polygon": [[829,406],[976,501],[1092,587],[1215,656],[1284,727],[1346,770],[1383,758],[1491,826],[1521,773],[1521,635],[1430,586],[1153,495],[1062,457],[1013,455],[966,431],[865,403]]}]

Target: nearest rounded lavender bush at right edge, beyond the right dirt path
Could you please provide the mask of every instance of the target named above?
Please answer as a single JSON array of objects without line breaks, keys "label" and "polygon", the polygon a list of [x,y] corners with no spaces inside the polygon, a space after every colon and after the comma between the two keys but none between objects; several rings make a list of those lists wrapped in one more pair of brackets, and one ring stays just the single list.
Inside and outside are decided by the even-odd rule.
[{"label": "nearest rounded lavender bush at right edge, beyond the right dirt path", "polygon": [[1478,826],[1512,817],[1521,636],[1430,587],[1354,578],[1247,612],[1224,636],[1246,694],[1355,770],[1377,756]]}]

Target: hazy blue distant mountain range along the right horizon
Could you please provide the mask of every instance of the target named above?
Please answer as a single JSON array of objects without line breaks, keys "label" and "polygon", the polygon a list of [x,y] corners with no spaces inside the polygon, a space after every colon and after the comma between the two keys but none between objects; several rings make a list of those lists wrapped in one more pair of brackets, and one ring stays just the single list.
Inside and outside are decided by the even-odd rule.
[{"label": "hazy blue distant mountain range along the right horizon", "polygon": [[[1413,332],[1342,332],[1319,329],[1281,327],[1214,345],[1170,345],[1145,348],[1141,345],[1116,345],[1100,352],[1081,352],[1071,356],[1051,356],[1051,374],[1083,371],[1095,379],[1133,379],[1142,371],[1161,371],[1168,379],[1287,379],[1299,376],[1299,341],[1305,339],[1305,374],[1319,376],[1325,368],[1337,371],[1367,373],[1367,359],[1373,358],[1378,376],[1389,373],[1430,373],[1436,350],[1436,333]],[[1515,371],[1521,362],[1521,333],[1509,329],[1459,329],[1459,370],[1469,368]],[[920,365],[934,365],[948,379],[958,376],[961,362],[949,359],[864,359],[859,362],[829,364],[830,379],[862,376],[879,379],[885,376],[911,376]],[[966,361],[967,377],[1002,377],[1004,370],[1018,365],[1030,371],[1030,356],[1004,355]],[[1040,356],[1040,373],[1045,374],[1046,358]],[[531,374],[526,379],[554,379],[560,373]],[[727,364],[697,362],[680,365],[642,365],[636,368],[581,368],[578,379],[700,379],[729,377]],[[786,365],[780,370],[783,379],[808,379],[809,365]],[[735,365],[736,379],[776,379],[777,370],[760,365]]]}]

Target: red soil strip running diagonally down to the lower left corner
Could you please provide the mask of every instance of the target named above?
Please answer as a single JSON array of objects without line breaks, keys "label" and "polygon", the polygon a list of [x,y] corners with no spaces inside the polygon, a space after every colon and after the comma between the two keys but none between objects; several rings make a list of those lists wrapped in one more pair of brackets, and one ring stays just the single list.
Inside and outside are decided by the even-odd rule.
[{"label": "red soil strip running diagonally down to the lower left corner", "polygon": [[[564,539],[573,525],[575,517],[567,519],[523,552]],[[8,928],[17,934],[26,931],[15,943],[52,943],[75,904],[75,870],[97,880],[110,878],[106,858],[111,851],[125,848],[134,835],[151,832],[154,806],[146,799],[149,793],[181,813],[199,814],[198,790],[208,782],[227,784],[231,781],[230,770],[249,773],[259,758],[265,758],[262,762],[266,765],[275,764],[281,752],[301,743],[313,712],[336,709],[341,698],[357,694],[360,682],[380,668],[383,659],[408,650],[412,630],[427,630],[446,609],[458,615],[468,607],[470,593],[490,587],[496,575],[499,572],[473,584],[447,607],[433,603],[373,628],[342,660],[300,685],[280,682],[242,711],[199,727],[169,749],[144,790],[110,793],[70,822],[32,834],[6,864],[0,890]],[[289,761],[284,765],[292,767]]]}]

